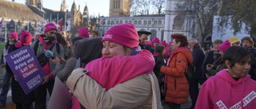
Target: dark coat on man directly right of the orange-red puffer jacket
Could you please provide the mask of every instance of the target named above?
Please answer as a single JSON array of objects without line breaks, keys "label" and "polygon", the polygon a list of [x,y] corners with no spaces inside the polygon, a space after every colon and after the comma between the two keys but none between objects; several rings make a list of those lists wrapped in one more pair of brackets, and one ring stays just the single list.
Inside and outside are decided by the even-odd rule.
[{"label": "dark coat on man directly right of the orange-red puffer jacket", "polygon": [[192,53],[193,56],[193,65],[196,68],[195,72],[192,75],[192,79],[202,79],[202,62],[204,60],[205,54],[203,53],[202,49],[198,45],[194,45],[194,50]]}]

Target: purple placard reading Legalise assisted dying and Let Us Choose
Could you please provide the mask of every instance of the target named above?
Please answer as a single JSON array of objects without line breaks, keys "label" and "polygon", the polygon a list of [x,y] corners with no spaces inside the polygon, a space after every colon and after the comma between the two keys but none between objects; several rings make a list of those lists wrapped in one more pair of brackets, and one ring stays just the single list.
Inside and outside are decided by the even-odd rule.
[{"label": "purple placard reading Legalise assisted dying and Let Us Choose", "polygon": [[40,79],[46,74],[34,56],[30,45],[8,53],[5,58],[26,94],[42,84]]}]

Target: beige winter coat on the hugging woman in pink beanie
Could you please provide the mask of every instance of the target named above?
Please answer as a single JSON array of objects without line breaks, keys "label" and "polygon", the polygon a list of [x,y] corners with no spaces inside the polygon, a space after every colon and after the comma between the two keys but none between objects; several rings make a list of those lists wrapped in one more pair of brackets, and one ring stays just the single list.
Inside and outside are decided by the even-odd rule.
[{"label": "beige winter coat on the hugging woman in pink beanie", "polygon": [[158,80],[154,72],[136,76],[106,91],[90,76],[85,68],[75,69],[66,80],[66,85],[86,109],[150,109],[153,90],[150,76],[153,77],[156,94],[156,107],[162,109]]}]

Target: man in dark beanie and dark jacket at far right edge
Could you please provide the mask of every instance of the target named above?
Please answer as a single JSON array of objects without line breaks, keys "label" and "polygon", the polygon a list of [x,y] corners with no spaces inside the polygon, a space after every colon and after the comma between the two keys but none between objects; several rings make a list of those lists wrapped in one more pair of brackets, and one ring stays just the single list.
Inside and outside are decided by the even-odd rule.
[{"label": "man in dark beanie and dark jacket at far right edge", "polygon": [[242,46],[246,49],[250,50],[250,53],[252,53],[253,58],[250,62],[250,71],[249,75],[250,78],[253,80],[256,80],[256,49],[254,49],[254,40],[251,37],[243,37],[242,38]]}]

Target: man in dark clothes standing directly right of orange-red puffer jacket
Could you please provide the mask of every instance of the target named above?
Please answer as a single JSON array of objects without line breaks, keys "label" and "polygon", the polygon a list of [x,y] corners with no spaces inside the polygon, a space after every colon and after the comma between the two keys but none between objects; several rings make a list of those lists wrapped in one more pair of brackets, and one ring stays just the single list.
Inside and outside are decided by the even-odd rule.
[{"label": "man in dark clothes standing directly right of orange-red puffer jacket", "polygon": [[189,81],[190,84],[190,98],[192,100],[192,106],[190,109],[194,109],[195,103],[198,98],[198,83],[199,80],[202,79],[202,62],[204,59],[205,54],[203,53],[198,41],[194,38],[189,40],[189,47],[193,49],[192,56],[193,56],[193,65],[195,68],[195,72],[193,73],[191,80]]}]

